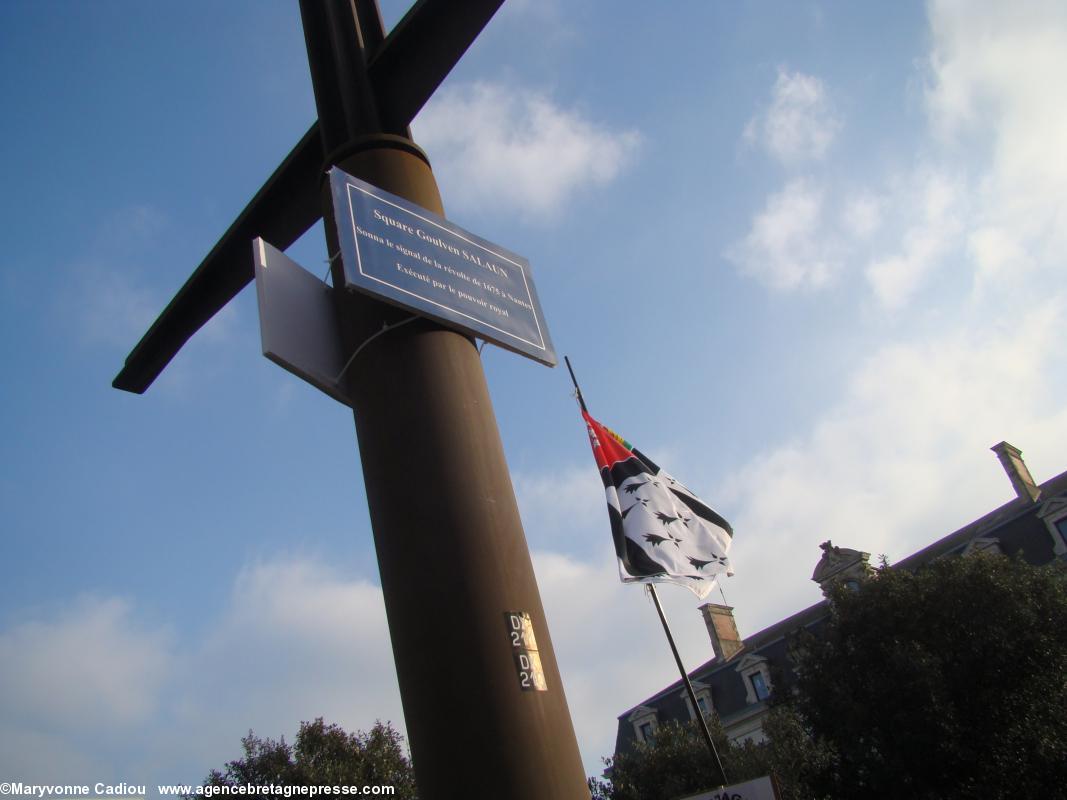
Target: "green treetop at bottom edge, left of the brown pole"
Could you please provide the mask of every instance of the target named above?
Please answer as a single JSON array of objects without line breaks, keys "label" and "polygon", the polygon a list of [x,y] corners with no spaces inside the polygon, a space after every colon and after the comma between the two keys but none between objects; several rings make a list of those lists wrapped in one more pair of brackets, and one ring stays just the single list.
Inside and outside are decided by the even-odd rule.
[{"label": "green treetop at bottom edge, left of the brown pole", "polygon": [[244,757],[211,770],[211,786],[393,786],[392,797],[415,800],[415,773],[403,738],[391,725],[347,733],[322,718],[302,722],[296,741],[260,739],[249,731]]}]

